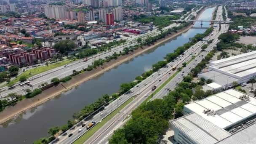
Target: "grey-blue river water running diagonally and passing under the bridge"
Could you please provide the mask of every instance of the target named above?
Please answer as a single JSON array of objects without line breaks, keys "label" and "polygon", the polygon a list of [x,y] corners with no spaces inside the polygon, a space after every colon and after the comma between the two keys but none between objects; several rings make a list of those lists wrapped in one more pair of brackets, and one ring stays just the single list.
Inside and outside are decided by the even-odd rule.
[{"label": "grey-blue river water running diagonally and passing under the bridge", "polygon": [[[210,20],[213,10],[214,8],[206,9],[199,19]],[[0,127],[0,143],[32,144],[33,141],[48,136],[49,128],[66,124],[67,120],[72,119],[74,112],[96,101],[103,94],[117,92],[122,83],[130,82],[149,70],[152,64],[163,60],[167,53],[187,43],[189,37],[205,32],[206,29],[200,28],[200,24],[201,22],[196,22],[195,28],[3,123]],[[209,27],[209,22],[203,22],[203,27]]]}]

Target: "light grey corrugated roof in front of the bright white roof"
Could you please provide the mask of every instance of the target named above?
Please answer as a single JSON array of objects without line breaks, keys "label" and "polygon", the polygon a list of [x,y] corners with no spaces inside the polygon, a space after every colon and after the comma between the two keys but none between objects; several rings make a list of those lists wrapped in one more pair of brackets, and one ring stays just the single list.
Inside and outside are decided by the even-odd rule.
[{"label": "light grey corrugated roof in front of the bright white roof", "polygon": [[173,120],[171,124],[198,144],[214,144],[230,135],[196,113]]}]

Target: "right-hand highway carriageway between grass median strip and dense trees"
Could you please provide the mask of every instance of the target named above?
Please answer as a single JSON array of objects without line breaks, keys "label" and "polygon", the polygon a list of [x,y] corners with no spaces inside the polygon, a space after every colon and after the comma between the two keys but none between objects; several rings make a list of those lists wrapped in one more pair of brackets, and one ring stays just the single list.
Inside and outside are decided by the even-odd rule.
[{"label": "right-hand highway carriageway between grass median strip and dense trees", "polygon": [[[221,11],[222,12],[222,11]],[[221,12],[218,10],[218,15],[221,15]],[[221,19],[221,17],[217,17],[219,19]],[[211,50],[211,48],[216,45],[216,43],[218,42],[218,36],[223,33],[223,32],[227,32],[227,25],[226,24],[221,24],[221,31],[219,32],[219,27],[216,27],[214,32],[213,32],[213,35],[212,36],[208,36],[208,38],[212,39],[214,38],[213,40],[213,43],[210,44],[208,46],[208,48],[206,49],[206,52],[203,52],[203,53],[200,53],[201,49],[200,48],[197,48],[198,46],[198,43],[195,44],[193,47],[194,47],[194,50],[193,50],[193,47],[189,48],[188,51],[193,51],[194,53],[200,53],[200,55],[196,56],[195,59],[193,61],[191,61],[180,73],[179,75],[176,75],[176,77],[173,78],[173,80],[171,80],[169,83],[168,83],[168,88],[171,88],[173,89],[175,86],[176,86],[176,82],[179,82],[181,81],[181,79],[179,79],[179,77],[181,77],[181,74],[182,72],[184,71],[184,75],[187,75],[187,72],[190,71],[190,69],[192,69],[192,67],[195,67],[195,65],[200,62],[203,57],[208,53],[208,51]],[[206,37],[207,38],[207,37]],[[201,43],[201,45],[203,45],[203,43]],[[203,54],[203,56],[202,56]],[[190,56],[188,57],[184,57],[183,59],[179,60],[178,63],[179,65],[181,63],[183,63],[184,61],[187,61],[187,59],[191,59]],[[197,61],[196,61],[197,60]],[[165,71],[164,69],[168,69],[168,68],[163,68],[163,69],[160,69],[160,72],[162,71]],[[173,74],[175,71],[171,71],[171,69],[169,69],[169,73],[171,72],[171,74]],[[165,76],[165,75],[169,75],[169,73],[167,72],[166,74],[164,74],[161,78],[161,82],[159,82],[158,79],[155,79],[155,82],[154,82],[154,85],[161,85],[161,83],[164,83],[164,81],[167,79],[165,77],[168,77],[168,76]],[[105,124],[99,131],[97,131],[93,136],[91,136],[90,139],[88,139],[87,141],[85,141],[84,144],[107,144],[108,143],[108,139],[110,138],[110,136],[112,136],[113,134],[113,131],[115,131],[115,129],[117,128],[120,128],[124,123],[125,123],[125,120],[124,120],[124,117],[126,117],[127,115],[129,115],[133,109],[135,109],[137,106],[136,106],[136,103],[138,103],[138,105],[140,103],[142,103],[146,97],[145,95],[147,94],[150,94],[152,93],[152,91],[149,89],[145,89],[144,91],[142,91],[137,97],[135,100],[133,100],[130,104],[128,104],[124,109],[122,109],[120,111],[119,114],[115,115],[114,118],[112,118],[111,120],[109,120],[109,122],[107,124]],[[161,98],[163,96],[165,96],[168,91],[165,90],[165,88],[163,88],[160,92],[160,94],[157,93],[157,95],[154,96],[153,99],[155,98]]]}]

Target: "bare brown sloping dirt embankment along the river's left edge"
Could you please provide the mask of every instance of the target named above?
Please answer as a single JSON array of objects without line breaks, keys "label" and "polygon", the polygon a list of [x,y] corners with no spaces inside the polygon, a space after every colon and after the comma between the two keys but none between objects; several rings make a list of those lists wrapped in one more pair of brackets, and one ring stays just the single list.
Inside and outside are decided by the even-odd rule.
[{"label": "bare brown sloping dirt embankment along the river's left edge", "polygon": [[130,52],[130,54],[125,55],[125,56],[119,56],[116,60],[112,60],[112,61],[104,64],[103,66],[98,67],[97,69],[93,69],[90,72],[86,71],[79,75],[76,75],[75,77],[72,77],[72,80],[69,80],[67,83],[61,83],[61,85],[59,84],[57,86],[53,86],[53,87],[43,91],[43,93],[39,94],[38,96],[35,96],[34,98],[24,99],[23,101],[18,102],[13,107],[5,108],[3,110],[3,112],[0,112],[0,123],[4,123],[5,121],[18,116],[22,112],[24,112],[32,107],[35,107],[35,106],[40,105],[50,99],[53,99],[55,96],[58,96],[62,92],[68,91],[69,89],[71,89],[77,85],[80,85],[81,83],[84,83],[85,81],[90,80],[91,78],[96,77],[97,75],[100,75],[101,73],[104,73],[105,71],[112,69],[113,67],[116,67],[125,61],[128,61],[128,60],[134,58],[135,56],[138,56],[141,53],[144,53],[151,48],[155,48],[156,46],[160,45],[161,43],[164,43],[164,42],[172,39],[173,37],[176,37],[176,36],[180,35],[181,33],[186,32],[192,26],[193,25],[184,27],[183,29],[179,30],[177,33],[173,32],[173,34],[167,35],[165,38],[157,40],[157,42],[155,42],[153,45],[144,46],[144,47],[139,48],[133,52]]}]

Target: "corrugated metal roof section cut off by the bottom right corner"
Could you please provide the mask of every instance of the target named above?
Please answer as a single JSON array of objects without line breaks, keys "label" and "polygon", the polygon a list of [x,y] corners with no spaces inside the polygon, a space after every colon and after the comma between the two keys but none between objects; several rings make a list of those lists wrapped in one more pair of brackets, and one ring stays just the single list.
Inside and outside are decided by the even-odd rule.
[{"label": "corrugated metal roof section cut off by the bottom right corner", "polygon": [[256,144],[256,123],[233,133],[216,144]]}]

